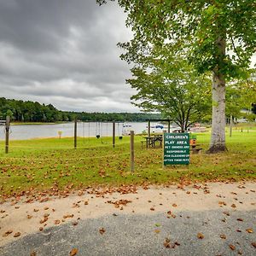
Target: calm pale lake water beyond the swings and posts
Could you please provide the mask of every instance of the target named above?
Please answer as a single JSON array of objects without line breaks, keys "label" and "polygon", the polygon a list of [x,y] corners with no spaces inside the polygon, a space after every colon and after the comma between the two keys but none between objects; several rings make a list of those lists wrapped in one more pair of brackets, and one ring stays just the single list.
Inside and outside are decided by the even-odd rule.
[{"label": "calm pale lake water beyond the swings and posts", "polygon": [[[128,125],[131,127],[123,127],[123,125]],[[141,133],[147,131],[148,123],[116,123],[115,124],[115,134],[116,136],[121,136],[122,133],[129,130],[135,131],[135,133]],[[156,125],[156,123],[151,123],[151,126]],[[38,137],[58,137],[58,132],[61,131],[62,137],[72,137],[74,133],[74,124],[57,124],[57,125],[11,125],[10,128],[10,140],[23,140]],[[159,129],[153,129],[153,131],[161,131]],[[94,123],[88,122],[78,123],[78,136],[79,137],[96,137],[100,135],[101,137],[111,137],[113,132],[112,123]],[[4,140],[4,126],[0,126],[0,140]]]}]

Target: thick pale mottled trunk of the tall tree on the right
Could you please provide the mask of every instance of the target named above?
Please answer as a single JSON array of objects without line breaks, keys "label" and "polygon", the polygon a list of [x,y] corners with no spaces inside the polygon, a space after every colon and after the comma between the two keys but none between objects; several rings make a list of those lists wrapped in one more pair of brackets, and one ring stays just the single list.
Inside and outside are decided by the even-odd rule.
[{"label": "thick pale mottled trunk of the tall tree on the right", "polygon": [[[225,55],[225,39],[218,38],[218,54],[220,62]],[[225,151],[225,79],[219,67],[212,74],[212,137],[210,148],[207,153],[218,153]]]}]

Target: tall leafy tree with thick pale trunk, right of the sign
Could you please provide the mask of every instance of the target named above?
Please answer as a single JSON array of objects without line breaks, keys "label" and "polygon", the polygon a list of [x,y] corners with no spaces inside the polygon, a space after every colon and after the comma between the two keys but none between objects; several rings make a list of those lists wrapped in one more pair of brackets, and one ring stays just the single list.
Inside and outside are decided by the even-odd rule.
[{"label": "tall leafy tree with thick pale trunk, right of the sign", "polygon": [[[106,3],[106,0],[96,0]],[[200,73],[212,72],[212,137],[209,153],[226,150],[225,84],[246,78],[256,46],[254,0],[118,0],[134,38],[122,46],[127,61],[166,44],[183,52]],[[171,63],[170,63],[171,64]]]}]

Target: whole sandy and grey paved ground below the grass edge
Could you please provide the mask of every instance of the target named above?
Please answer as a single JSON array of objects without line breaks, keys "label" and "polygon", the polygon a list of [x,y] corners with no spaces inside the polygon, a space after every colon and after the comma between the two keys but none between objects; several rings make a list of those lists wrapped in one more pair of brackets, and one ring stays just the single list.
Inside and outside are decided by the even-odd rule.
[{"label": "whole sandy and grey paved ground below the grass edge", "polygon": [[8,201],[0,206],[0,254],[253,255],[255,189],[207,183]]}]

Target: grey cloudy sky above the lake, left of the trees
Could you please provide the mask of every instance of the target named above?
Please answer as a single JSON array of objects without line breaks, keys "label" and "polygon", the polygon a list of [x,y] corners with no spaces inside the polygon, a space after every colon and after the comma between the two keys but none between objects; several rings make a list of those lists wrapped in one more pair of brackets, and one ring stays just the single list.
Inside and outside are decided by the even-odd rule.
[{"label": "grey cloudy sky above the lake, left of the trees", "polygon": [[138,112],[116,46],[130,38],[116,3],[0,0],[0,96],[61,110]]}]

